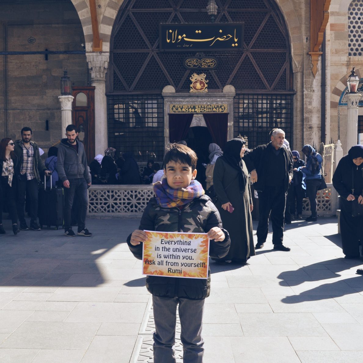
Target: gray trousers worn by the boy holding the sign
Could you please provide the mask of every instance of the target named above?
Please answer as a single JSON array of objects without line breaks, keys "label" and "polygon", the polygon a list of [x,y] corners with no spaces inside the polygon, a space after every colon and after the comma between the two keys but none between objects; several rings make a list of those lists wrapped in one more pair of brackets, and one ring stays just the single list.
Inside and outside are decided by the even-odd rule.
[{"label": "gray trousers worn by the boy holding the sign", "polygon": [[181,325],[180,340],[183,344],[184,363],[203,362],[201,337],[204,299],[190,300],[152,295],[154,310],[154,363],[175,363],[176,307],[179,303]]}]

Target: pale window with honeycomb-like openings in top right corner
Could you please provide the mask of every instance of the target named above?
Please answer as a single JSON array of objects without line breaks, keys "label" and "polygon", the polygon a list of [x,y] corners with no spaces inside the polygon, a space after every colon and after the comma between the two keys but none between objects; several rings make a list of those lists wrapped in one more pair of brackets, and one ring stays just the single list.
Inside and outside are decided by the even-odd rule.
[{"label": "pale window with honeycomb-like openings in top right corner", "polygon": [[363,1],[353,0],[348,8],[348,56],[363,54]]}]

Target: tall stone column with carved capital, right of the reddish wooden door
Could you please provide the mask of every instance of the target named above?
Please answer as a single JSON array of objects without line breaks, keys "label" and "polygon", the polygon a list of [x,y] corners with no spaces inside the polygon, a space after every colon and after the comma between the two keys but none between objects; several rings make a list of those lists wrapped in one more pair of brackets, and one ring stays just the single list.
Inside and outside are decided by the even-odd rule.
[{"label": "tall stone column with carved capital, right of the reddish wooden door", "polygon": [[95,154],[103,155],[108,147],[107,98],[105,93],[106,72],[109,65],[110,53],[87,53],[86,56],[91,72],[91,86],[95,87]]}]

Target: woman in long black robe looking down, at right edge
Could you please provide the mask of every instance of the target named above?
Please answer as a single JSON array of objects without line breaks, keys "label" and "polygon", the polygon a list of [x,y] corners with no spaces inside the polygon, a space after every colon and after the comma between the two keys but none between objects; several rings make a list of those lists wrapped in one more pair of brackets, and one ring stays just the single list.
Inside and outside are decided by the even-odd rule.
[{"label": "woman in long black robe looking down, at right edge", "polygon": [[343,253],[345,258],[359,259],[359,244],[363,245],[363,216],[352,216],[352,203],[358,199],[358,203],[363,204],[363,145],[351,147],[348,155],[340,159],[333,175],[333,187],[340,195]]}]

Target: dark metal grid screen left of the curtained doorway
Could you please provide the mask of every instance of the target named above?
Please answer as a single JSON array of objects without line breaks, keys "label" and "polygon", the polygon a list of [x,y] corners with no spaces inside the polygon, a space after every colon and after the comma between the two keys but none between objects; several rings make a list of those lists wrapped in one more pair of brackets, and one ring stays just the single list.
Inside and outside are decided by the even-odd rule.
[{"label": "dark metal grid screen left of the curtained doorway", "polygon": [[164,101],[157,95],[107,97],[109,146],[136,161],[162,160]]}]

